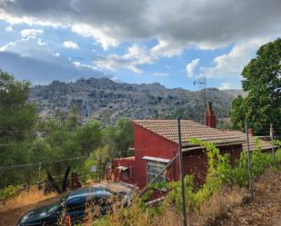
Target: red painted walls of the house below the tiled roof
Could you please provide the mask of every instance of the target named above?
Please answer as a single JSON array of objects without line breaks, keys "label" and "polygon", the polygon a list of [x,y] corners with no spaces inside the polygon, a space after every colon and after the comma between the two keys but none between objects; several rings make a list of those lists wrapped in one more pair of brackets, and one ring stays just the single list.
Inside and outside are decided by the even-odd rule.
[{"label": "red painted walls of the house below the tiled roof", "polygon": [[[120,172],[116,170],[118,165],[131,167],[132,180],[124,181],[134,183],[139,188],[146,186],[146,160],[144,156],[151,156],[156,158],[173,159],[176,155],[178,145],[176,142],[171,142],[166,138],[153,133],[145,128],[134,123],[135,127],[135,161],[125,159],[117,159],[114,161],[115,166],[115,180],[121,180]],[[232,146],[219,147],[220,152],[229,152],[230,161],[235,163],[242,152],[242,144]],[[206,180],[207,173],[207,158],[206,152],[202,150],[195,150],[192,152],[184,152],[184,172],[185,174],[195,174],[195,182],[197,185],[202,185]],[[131,157],[132,158],[132,157]],[[167,169],[167,181],[176,181],[179,179],[179,161],[176,159]]]}]

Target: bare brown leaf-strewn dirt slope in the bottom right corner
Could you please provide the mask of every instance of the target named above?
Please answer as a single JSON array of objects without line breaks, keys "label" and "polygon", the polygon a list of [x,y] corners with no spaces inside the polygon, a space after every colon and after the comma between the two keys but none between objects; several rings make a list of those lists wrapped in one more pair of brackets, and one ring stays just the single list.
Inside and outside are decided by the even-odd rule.
[{"label": "bare brown leaf-strewn dirt slope in the bottom right corner", "polygon": [[281,172],[267,170],[255,189],[253,199],[246,199],[207,225],[281,226]]}]

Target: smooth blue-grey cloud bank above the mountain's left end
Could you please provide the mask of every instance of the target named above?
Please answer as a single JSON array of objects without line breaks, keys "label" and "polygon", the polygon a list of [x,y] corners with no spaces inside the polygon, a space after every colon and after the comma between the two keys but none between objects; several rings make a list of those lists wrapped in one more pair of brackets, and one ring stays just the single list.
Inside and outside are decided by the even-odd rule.
[{"label": "smooth blue-grey cloud bank above the mountain's left end", "polygon": [[64,57],[41,53],[40,57],[30,57],[13,52],[0,52],[0,68],[15,75],[16,79],[27,79],[33,84],[48,84],[54,80],[69,82],[83,76],[105,77],[108,75],[89,67],[75,66]]}]

